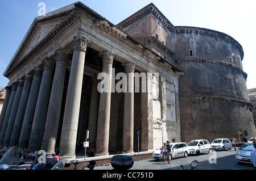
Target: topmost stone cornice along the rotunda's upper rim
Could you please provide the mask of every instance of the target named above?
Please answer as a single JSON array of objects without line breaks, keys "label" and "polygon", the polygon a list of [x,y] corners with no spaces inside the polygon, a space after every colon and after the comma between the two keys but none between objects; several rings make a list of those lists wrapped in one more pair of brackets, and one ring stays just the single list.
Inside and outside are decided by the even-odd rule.
[{"label": "topmost stone cornice along the rotunda's upper rim", "polygon": [[222,39],[232,45],[234,45],[234,47],[236,47],[241,54],[241,60],[243,60],[243,48],[240,45],[240,43],[238,43],[237,40],[233,39],[233,37],[219,32],[219,31],[215,31],[215,30],[209,30],[206,28],[199,28],[199,27],[186,27],[186,26],[175,26],[172,29],[173,35],[180,35],[180,34],[194,34],[194,35],[201,35],[201,36],[210,36],[213,37],[214,39]]}]

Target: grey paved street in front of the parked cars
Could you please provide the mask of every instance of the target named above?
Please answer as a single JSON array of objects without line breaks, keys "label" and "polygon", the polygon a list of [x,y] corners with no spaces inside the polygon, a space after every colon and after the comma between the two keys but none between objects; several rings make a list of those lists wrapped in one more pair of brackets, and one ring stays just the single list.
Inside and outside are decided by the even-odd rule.
[{"label": "grey paved street in front of the parked cars", "polygon": [[[191,169],[190,163],[193,160],[199,161],[199,166],[195,170],[254,170],[250,164],[238,164],[236,161],[236,151],[213,151],[213,154],[201,154],[199,156],[189,155],[187,158],[174,158],[170,164],[155,159],[144,159],[135,161],[130,170],[182,170],[180,165],[184,165],[185,170]],[[100,166],[94,170],[112,170],[113,167]]]}]

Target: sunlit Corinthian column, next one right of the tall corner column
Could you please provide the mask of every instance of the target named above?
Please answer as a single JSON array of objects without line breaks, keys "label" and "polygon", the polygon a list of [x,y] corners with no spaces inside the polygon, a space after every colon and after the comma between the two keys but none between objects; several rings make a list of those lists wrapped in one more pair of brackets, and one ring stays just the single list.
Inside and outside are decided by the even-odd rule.
[{"label": "sunlit Corinthian column, next one right of the tall corner column", "polygon": [[[103,60],[102,72],[108,74],[108,91],[100,95],[100,106],[98,110],[98,129],[96,154],[109,154],[109,124],[110,124],[110,103],[111,103],[111,85],[112,85],[112,65],[114,53],[104,51],[99,54]],[[104,80],[105,81],[105,80]]]}]

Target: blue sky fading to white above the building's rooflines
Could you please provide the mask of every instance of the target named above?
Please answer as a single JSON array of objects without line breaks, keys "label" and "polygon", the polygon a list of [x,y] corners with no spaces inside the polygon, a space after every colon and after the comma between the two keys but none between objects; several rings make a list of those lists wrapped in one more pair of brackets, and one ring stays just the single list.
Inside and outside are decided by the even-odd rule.
[{"label": "blue sky fading to white above the building's rooflines", "polygon": [[[77,1],[0,0],[0,87],[7,86],[9,82],[3,73],[34,18],[39,16],[39,2],[46,4],[46,12],[51,12]],[[247,88],[256,88],[255,0],[80,0],[80,2],[113,24],[118,24],[152,2],[174,26],[202,27],[224,32],[242,45],[245,53],[242,61],[243,71],[248,74]]]}]

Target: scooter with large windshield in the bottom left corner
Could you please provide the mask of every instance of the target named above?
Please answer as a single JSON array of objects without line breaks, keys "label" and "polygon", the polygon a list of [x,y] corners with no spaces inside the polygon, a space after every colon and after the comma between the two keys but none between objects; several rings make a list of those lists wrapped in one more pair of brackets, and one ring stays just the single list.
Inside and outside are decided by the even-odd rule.
[{"label": "scooter with large windshield in the bottom left corner", "polygon": [[0,160],[0,170],[15,170],[16,166],[23,165],[21,161],[23,150],[18,146],[12,146]]}]

